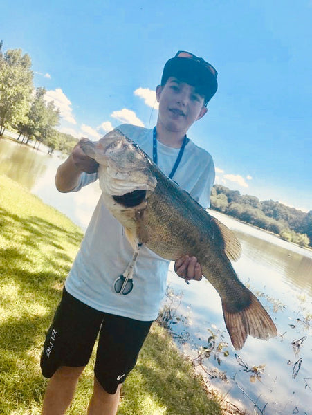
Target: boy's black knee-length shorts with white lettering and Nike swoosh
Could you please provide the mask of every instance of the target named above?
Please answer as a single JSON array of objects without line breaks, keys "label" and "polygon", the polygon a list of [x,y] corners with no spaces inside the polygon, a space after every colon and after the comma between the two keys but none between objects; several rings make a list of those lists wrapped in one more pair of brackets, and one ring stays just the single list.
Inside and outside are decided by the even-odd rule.
[{"label": "boy's black knee-length shorts with white lettering and Nike swoosh", "polygon": [[152,321],[102,313],[64,289],[44,342],[42,374],[51,378],[60,366],[85,366],[100,331],[94,372],[104,390],[115,394],[136,365],[151,325]]}]

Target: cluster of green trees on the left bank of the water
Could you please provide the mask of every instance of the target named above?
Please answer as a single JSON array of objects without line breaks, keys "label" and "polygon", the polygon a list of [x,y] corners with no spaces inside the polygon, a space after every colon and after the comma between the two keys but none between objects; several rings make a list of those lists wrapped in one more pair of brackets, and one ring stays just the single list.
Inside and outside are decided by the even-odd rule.
[{"label": "cluster of green trees on the left bank of the water", "polygon": [[46,90],[35,89],[30,56],[21,49],[2,51],[0,42],[0,138],[6,128],[19,133],[21,142],[42,142],[52,153],[58,149],[68,154],[77,138],[61,133],[59,109],[54,102],[46,102]]}]

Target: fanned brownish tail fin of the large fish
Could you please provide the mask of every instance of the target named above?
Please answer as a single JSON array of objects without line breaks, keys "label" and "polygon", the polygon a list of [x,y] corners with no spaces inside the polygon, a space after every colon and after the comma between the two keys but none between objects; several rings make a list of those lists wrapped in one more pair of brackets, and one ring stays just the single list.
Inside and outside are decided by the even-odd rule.
[{"label": "fanned brownish tail fin of the large fish", "polygon": [[248,306],[240,311],[230,311],[230,308],[233,307],[231,305],[227,306],[224,299],[222,301],[224,322],[236,350],[244,346],[248,335],[262,340],[268,340],[268,338],[277,335],[277,329],[271,317],[257,297],[251,291],[249,291],[249,294]]}]

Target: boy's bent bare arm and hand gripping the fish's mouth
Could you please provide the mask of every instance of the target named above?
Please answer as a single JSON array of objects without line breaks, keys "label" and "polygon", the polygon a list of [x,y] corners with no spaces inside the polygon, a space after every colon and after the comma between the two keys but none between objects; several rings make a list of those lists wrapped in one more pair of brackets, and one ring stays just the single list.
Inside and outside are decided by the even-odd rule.
[{"label": "boy's bent bare arm and hand gripping the fish's mouth", "polygon": [[89,141],[82,138],[71,151],[68,158],[59,166],[55,176],[55,185],[59,192],[70,192],[80,183],[82,172],[95,173],[98,170],[98,163],[93,158],[84,154],[80,144]]}]

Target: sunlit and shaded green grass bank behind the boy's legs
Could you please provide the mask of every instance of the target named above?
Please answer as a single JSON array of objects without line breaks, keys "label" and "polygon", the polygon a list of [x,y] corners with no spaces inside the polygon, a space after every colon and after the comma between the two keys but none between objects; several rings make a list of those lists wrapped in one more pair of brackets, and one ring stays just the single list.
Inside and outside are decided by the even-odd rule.
[{"label": "sunlit and shaded green grass bank behind the boy's legs", "polygon": [[[40,413],[44,335],[81,239],[66,216],[0,175],[0,414]],[[86,412],[94,357],[68,414]],[[218,415],[221,409],[169,335],[154,324],[122,389],[118,414]]]}]

